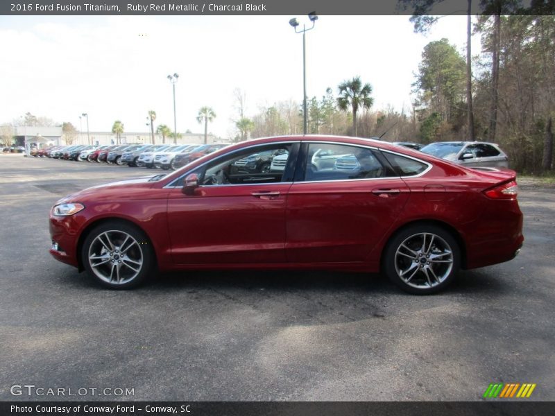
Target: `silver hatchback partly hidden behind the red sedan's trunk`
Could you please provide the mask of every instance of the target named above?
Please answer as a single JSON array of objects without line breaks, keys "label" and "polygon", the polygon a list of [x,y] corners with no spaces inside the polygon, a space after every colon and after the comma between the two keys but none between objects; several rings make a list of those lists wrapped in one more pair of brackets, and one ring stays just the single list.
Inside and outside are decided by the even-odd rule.
[{"label": "silver hatchback partly hidden behind the red sedan's trunk", "polygon": [[509,158],[495,143],[485,141],[438,141],[420,149],[428,155],[474,167],[508,168]]}]

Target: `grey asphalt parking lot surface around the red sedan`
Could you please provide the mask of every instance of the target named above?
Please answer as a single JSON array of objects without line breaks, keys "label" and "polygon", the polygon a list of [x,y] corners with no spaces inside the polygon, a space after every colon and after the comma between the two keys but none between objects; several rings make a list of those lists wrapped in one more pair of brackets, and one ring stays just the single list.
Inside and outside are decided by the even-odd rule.
[{"label": "grey asphalt parking lot surface around the red sedan", "polygon": [[0,400],[10,386],[133,388],[105,400],[555,399],[555,189],[524,186],[524,248],[441,295],[378,275],[187,272],[108,291],[51,258],[49,209],[144,168],[0,155]]}]

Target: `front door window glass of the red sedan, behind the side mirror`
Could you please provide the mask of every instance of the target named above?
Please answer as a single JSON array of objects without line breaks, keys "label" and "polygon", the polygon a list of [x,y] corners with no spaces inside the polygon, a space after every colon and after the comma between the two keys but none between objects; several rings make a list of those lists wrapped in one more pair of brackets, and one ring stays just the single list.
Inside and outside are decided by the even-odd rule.
[{"label": "front door window glass of the red sedan, behind the side mirror", "polygon": [[[197,172],[200,184],[213,186],[282,182],[291,146],[291,144],[256,146],[219,157]],[[281,170],[272,171],[271,165],[276,155],[285,157],[285,164]]]}]

